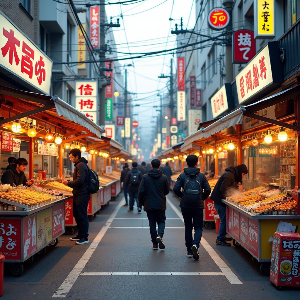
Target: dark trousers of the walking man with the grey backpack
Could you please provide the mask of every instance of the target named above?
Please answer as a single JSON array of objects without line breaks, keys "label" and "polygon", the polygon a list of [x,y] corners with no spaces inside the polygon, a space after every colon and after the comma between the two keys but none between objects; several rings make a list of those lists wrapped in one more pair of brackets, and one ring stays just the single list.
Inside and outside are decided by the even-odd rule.
[{"label": "dark trousers of the walking man with the grey backpack", "polygon": [[[203,209],[201,208],[181,208],[183,220],[184,220],[184,237],[185,246],[187,251],[192,250],[192,246],[195,244],[199,248],[200,240],[202,237],[203,229]],[[193,239],[193,226],[194,226],[194,239]]]}]

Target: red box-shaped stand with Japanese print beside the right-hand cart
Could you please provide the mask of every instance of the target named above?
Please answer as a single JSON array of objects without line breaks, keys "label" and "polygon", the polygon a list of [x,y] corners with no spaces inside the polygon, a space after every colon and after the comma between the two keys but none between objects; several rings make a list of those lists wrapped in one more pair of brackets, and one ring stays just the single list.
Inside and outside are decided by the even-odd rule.
[{"label": "red box-shaped stand with Japanese print beside the right-hand cart", "polygon": [[270,281],[275,286],[300,287],[300,234],[275,232],[273,235]]}]

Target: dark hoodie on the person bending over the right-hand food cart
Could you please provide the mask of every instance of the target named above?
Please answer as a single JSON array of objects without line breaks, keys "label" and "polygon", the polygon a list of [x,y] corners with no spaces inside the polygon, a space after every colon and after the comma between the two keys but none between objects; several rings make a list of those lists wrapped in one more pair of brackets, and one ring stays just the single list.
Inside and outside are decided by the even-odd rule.
[{"label": "dark hoodie on the person bending over the right-hand food cart", "polygon": [[236,189],[238,183],[242,183],[242,173],[248,173],[248,169],[245,164],[241,164],[236,167],[229,166],[226,168],[225,172],[217,181],[210,198],[214,200],[216,204],[225,206],[222,199],[229,196],[227,193],[230,193],[230,189]]}]

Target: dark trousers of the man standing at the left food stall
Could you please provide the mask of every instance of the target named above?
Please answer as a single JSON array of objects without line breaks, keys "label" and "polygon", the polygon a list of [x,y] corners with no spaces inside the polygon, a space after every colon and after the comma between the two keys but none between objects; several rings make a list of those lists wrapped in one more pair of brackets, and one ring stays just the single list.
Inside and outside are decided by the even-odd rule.
[{"label": "dark trousers of the man standing at the left food stall", "polygon": [[88,201],[90,195],[73,196],[73,216],[77,223],[78,236],[88,238]]}]

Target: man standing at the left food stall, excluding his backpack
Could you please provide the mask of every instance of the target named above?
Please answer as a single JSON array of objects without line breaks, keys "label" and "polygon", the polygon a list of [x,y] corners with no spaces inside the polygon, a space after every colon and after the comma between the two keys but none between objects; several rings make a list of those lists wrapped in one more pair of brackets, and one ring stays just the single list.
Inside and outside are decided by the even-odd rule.
[{"label": "man standing at the left food stall, excluding his backpack", "polygon": [[62,183],[73,188],[73,216],[77,223],[78,234],[70,240],[76,241],[76,244],[80,245],[88,243],[88,201],[90,199],[90,193],[87,189],[88,161],[81,157],[79,149],[72,149],[69,155],[70,161],[75,167],[73,180],[67,181],[62,177]]}]

